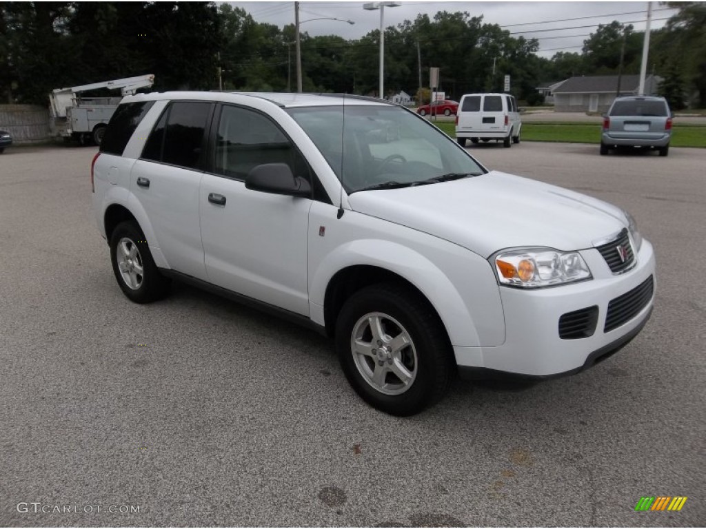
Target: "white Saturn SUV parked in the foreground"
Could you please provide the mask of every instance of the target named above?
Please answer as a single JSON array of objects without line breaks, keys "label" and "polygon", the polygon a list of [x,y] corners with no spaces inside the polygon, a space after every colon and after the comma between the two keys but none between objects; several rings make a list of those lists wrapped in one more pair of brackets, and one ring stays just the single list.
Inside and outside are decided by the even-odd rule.
[{"label": "white Saturn SUV parked in the foreground", "polygon": [[456,371],[578,372],[652,311],[652,245],[626,212],[488,171],[376,99],[128,96],[91,179],[128,298],[176,278],[314,327],[395,415]]}]

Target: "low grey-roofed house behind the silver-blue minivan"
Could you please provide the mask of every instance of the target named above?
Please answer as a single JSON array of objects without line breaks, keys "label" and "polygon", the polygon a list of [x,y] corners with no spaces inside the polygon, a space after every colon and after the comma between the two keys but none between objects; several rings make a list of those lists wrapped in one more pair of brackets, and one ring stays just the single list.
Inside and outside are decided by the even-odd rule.
[{"label": "low grey-roofed house behind the silver-blue minivan", "polygon": [[[658,75],[645,78],[645,95],[657,94]],[[640,75],[621,75],[620,95],[638,95]],[[554,88],[555,112],[606,112],[618,94],[618,75],[572,77]]]}]

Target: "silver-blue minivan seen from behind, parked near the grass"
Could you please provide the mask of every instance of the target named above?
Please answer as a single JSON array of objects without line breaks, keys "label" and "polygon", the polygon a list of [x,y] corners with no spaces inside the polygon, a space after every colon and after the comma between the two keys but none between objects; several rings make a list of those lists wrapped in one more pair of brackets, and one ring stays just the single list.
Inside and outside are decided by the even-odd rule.
[{"label": "silver-blue minivan seen from behind, parked near the grass", "polygon": [[671,111],[664,97],[618,97],[603,117],[601,154],[615,147],[656,149],[669,154]]}]

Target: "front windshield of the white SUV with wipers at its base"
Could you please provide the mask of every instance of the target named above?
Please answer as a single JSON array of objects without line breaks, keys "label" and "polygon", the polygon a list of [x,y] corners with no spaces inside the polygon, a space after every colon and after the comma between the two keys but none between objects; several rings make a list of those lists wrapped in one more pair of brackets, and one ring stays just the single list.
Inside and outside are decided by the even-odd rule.
[{"label": "front windshield of the white SUV with wipers at its base", "polygon": [[399,107],[287,109],[347,193],[477,176],[485,171],[452,140]]}]

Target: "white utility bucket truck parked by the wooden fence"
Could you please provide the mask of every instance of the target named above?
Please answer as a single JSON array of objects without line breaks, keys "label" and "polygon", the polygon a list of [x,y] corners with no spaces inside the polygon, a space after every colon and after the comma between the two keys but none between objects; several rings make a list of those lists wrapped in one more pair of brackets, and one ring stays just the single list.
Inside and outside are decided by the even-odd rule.
[{"label": "white utility bucket truck parked by the wooden fence", "polygon": [[122,97],[81,97],[83,92],[109,88],[120,89],[121,96],[133,95],[138,89],[151,87],[154,75],[140,75],[92,83],[90,85],[57,88],[49,94],[50,126],[54,137],[78,139],[82,144],[93,140],[100,145],[105,127]]}]

